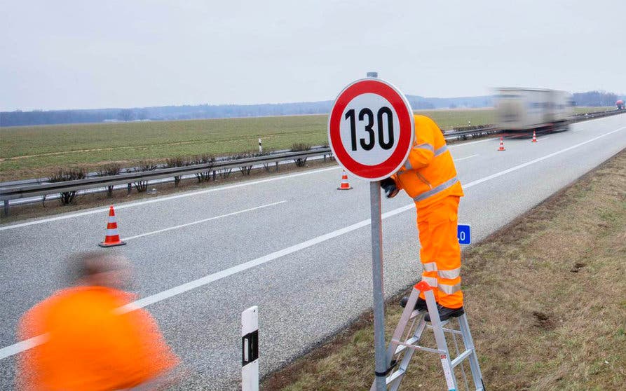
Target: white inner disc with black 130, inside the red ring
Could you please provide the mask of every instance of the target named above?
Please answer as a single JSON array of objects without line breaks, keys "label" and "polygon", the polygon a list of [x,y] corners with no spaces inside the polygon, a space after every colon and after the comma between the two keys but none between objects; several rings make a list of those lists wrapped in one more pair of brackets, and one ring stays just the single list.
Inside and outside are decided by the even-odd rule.
[{"label": "white inner disc with black 130, inside the red ring", "polygon": [[400,121],[388,100],[372,93],[358,95],[341,116],[341,144],[362,165],[390,158],[400,137]]}]

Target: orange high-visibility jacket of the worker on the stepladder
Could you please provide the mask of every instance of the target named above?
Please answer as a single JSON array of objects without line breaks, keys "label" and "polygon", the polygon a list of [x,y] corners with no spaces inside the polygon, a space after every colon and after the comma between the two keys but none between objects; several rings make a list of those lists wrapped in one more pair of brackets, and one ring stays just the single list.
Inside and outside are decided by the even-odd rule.
[{"label": "orange high-visibility jacket of the worker on the stepladder", "polygon": [[404,189],[417,207],[426,207],[447,196],[463,196],[454,161],[437,124],[426,116],[413,116],[415,141],[409,157],[393,174],[397,188]]}]

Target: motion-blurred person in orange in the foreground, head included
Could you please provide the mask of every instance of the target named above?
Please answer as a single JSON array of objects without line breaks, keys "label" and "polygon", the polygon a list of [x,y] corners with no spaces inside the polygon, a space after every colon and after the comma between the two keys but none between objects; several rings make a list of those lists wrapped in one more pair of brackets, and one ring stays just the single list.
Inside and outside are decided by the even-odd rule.
[{"label": "motion-blurred person in orange in the foreground, head included", "polygon": [[[18,357],[19,390],[154,389],[179,363],[156,322],[121,290],[126,262],[102,253],[76,257],[74,287],[57,291],[20,320],[20,339],[41,344]],[[122,308],[122,309],[120,309]]]}]

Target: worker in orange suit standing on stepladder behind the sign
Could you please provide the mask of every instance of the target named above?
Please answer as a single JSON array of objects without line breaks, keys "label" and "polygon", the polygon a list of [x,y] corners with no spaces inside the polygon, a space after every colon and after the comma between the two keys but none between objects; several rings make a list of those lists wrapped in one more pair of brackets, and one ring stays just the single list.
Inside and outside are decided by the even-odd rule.
[{"label": "worker in orange suit standing on stepladder behind the sign", "polygon": [[[422,280],[435,288],[442,320],[463,314],[461,247],[456,238],[458,200],[463,196],[454,161],[437,124],[414,116],[415,141],[398,172],[381,181],[387,198],[404,190],[413,198],[421,244]],[[404,306],[408,298],[403,298]],[[416,309],[426,310],[423,292]],[[430,317],[426,315],[426,320]]]}]

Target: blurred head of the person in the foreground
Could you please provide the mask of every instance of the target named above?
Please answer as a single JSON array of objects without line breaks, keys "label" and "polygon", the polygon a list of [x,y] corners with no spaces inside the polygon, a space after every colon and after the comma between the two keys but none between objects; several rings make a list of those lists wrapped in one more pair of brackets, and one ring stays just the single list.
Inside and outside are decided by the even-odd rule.
[{"label": "blurred head of the person in the foreground", "polygon": [[104,252],[83,252],[70,261],[70,284],[127,289],[130,284],[128,260]]}]

